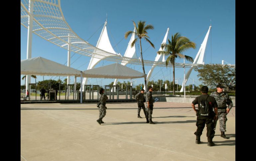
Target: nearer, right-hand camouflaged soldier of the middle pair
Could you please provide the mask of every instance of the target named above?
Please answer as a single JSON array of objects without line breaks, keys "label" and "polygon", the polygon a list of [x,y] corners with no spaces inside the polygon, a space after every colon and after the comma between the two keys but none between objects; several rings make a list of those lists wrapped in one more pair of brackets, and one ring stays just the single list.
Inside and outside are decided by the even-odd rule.
[{"label": "nearer, right-hand camouflaged soldier of the middle pair", "polygon": [[[149,87],[149,91],[146,95],[146,105],[147,105],[147,109],[146,109],[146,119],[149,119],[149,123],[150,124],[156,124],[155,122],[152,121],[152,114],[153,114],[153,103],[155,102],[155,100],[153,100],[152,97],[152,91],[153,91],[153,87]],[[148,120],[147,120],[148,123]]]}]

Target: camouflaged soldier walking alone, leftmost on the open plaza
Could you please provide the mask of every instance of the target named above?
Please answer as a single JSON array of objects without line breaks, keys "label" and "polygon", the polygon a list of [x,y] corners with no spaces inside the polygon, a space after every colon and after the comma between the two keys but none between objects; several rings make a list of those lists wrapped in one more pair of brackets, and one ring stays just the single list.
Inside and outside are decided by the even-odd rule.
[{"label": "camouflaged soldier walking alone, leftmost on the open plaza", "polygon": [[99,103],[100,103],[100,105],[99,105],[99,119],[97,120],[97,122],[99,123],[99,124],[101,124],[101,123],[104,123],[103,121],[102,121],[102,119],[105,117],[105,115],[106,115],[106,100],[108,99],[108,97],[104,94],[104,89],[103,88],[101,88],[100,90],[99,90],[99,96],[98,96],[98,100],[99,100]]}]

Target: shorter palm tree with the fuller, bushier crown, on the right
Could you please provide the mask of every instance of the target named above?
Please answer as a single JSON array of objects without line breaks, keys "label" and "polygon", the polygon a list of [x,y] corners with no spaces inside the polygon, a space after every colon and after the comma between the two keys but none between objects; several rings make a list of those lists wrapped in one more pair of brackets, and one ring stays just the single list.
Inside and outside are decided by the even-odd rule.
[{"label": "shorter palm tree with the fuller, bushier crown, on the right", "polygon": [[181,52],[189,49],[195,48],[195,43],[190,41],[187,37],[181,36],[179,33],[176,33],[174,36],[172,35],[172,41],[168,39],[169,44],[163,43],[161,44],[161,48],[165,51],[158,51],[158,54],[165,54],[169,55],[166,59],[166,67],[170,62],[173,65],[173,94],[175,95],[174,90],[174,83],[175,83],[175,59],[179,58],[186,58],[188,61],[193,62],[193,58],[187,55],[182,54]]}]

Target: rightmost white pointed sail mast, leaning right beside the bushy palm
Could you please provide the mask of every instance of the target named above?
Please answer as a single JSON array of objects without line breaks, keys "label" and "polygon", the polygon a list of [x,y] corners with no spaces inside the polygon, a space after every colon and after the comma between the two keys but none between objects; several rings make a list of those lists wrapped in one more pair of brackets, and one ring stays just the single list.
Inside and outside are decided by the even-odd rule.
[{"label": "rightmost white pointed sail mast, leaning right beside the bushy palm", "polygon": [[[208,37],[209,37],[209,33],[210,33],[210,29],[211,29],[211,26],[209,27],[209,30],[208,32],[206,33],[205,37],[204,37],[204,40],[195,56],[195,59],[193,61],[193,64],[204,64],[203,62],[203,57],[204,57],[204,52],[205,52],[205,48],[206,48],[206,44],[207,44],[207,40],[208,40]],[[188,79],[189,79],[189,76],[192,72],[192,69],[193,69],[194,66],[191,66],[190,70],[187,72],[186,76],[185,76],[185,84],[187,83]],[[184,80],[182,82],[182,88],[181,88],[181,91],[180,92],[184,92]]]}]

